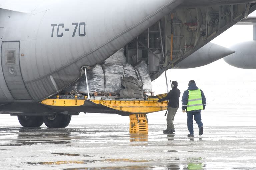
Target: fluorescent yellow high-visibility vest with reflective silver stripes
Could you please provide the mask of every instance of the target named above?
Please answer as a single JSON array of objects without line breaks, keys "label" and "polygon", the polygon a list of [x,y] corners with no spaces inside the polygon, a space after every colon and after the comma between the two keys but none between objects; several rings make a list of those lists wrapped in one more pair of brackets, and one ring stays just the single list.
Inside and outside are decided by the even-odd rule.
[{"label": "fluorescent yellow high-visibility vest with reflective silver stripes", "polygon": [[203,110],[201,90],[189,90],[187,111]]}]

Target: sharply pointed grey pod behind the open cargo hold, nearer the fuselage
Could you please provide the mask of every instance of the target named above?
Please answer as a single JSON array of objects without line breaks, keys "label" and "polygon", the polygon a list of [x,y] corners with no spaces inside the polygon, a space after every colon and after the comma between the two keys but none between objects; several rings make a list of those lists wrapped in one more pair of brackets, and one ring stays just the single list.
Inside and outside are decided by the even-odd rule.
[{"label": "sharply pointed grey pod behind the open cargo hold, nearer the fuselage", "polygon": [[173,68],[183,69],[201,67],[217,61],[234,52],[235,51],[232,51],[226,47],[209,42],[205,46],[188,56],[186,59],[175,65]]}]

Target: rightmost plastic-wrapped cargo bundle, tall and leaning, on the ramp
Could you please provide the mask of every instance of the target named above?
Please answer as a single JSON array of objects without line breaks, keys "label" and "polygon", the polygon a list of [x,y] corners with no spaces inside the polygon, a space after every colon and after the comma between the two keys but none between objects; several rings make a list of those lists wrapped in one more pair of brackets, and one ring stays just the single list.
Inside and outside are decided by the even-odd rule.
[{"label": "rightmost plastic-wrapped cargo bundle, tall and leaning, on the ramp", "polygon": [[142,82],[143,82],[143,91],[150,93],[152,92],[152,84],[151,84],[151,78],[148,72],[148,65],[144,60],[141,60],[135,68],[139,71]]}]

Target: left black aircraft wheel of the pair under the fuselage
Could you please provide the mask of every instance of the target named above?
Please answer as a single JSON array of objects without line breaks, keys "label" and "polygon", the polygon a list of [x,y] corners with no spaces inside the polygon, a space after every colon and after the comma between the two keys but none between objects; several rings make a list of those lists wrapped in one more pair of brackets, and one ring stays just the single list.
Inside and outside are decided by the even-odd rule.
[{"label": "left black aircraft wheel of the pair under the fuselage", "polygon": [[23,127],[40,127],[44,121],[41,116],[18,116],[20,125]]}]

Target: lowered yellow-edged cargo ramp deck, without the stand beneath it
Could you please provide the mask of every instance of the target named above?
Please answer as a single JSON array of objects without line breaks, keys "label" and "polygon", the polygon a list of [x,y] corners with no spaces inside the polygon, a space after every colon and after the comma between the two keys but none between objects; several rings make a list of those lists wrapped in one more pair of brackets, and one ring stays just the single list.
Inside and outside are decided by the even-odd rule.
[{"label": "lowered yellow-edged cargo ramp deck, without the stand beneath it", "polygon": [[77,111],[89,113],[115,113],[122,116],[140,113],[147,114],[167,109],[167,101],[158,102],[158,98],[149,97],[148,100],[141,99],[114,99],[95,97],[87,100],[87,96],[56,96],[46,99],[41,104],[63,111]]}]

